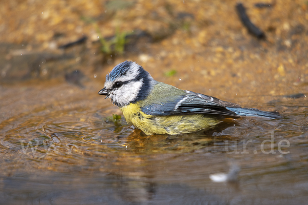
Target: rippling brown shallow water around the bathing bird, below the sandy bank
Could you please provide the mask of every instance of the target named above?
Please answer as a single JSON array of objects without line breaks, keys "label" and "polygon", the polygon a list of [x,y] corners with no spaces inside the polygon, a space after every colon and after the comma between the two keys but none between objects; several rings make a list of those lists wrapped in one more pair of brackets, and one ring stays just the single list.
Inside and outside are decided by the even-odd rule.
[{"label": "rippling brown shallow water around the bathing bird, below the sandy bank", "polygon": [[[15,111],[3,119],[0,203],[300,204],[307,200],[305,97],[274,101],[253,97],[258,108],[278,110],[282,119],[229,119],[206,132],[145,136],[123,118],[114,121],[112,113],[120,114],[119,110],[93,94],[95,86],[60,85],[45,92],[30,86],[40,106],[27,108],[29,97],[25,112]],[[10,89],[16,88],[5,88],[5,95]],[[54,100],[65,90],[62,100]],[[43,93],[53,96],[42,105]],[[238,100],[245,105],[245,97]],[[240,171],[233,182],[209,178],[234,167]]]}]

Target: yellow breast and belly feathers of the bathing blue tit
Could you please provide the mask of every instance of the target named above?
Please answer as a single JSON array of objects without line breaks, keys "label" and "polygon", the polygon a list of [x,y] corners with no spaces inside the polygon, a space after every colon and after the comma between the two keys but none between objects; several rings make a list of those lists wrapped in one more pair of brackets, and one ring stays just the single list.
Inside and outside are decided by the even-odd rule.
[{"label": "yellow breast and belly feathers of the bathing blue tit", "polygon": [[141,111],[139,103],[120,108],[129,125],[151,134],[183,134],[208,129],[220,121],[216,118],[195,114],[176,116],[152,116]]}]

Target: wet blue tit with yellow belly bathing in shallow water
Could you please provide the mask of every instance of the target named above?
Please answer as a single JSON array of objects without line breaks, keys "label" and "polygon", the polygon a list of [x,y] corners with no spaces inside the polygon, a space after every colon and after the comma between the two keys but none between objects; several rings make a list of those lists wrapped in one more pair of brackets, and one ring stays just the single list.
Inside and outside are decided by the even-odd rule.
[{"label": "wet blue tit with yellow belly bathing in shallow water", "polygon": [[223,118],[281,118],[275,112],[241,108],[216,97],[161,83],[133,61],[115,66],[106,75],[104,88],[98,94],[110,98],[123,112],[128,125],[146,135],[176,135],[206,130]]}]

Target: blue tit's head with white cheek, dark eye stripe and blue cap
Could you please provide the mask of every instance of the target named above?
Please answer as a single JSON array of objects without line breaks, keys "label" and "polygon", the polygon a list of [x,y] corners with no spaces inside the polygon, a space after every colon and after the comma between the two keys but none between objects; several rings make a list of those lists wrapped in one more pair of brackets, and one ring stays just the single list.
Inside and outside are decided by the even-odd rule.
[{"label": "blue tit's head with white cheek, dark eye stripe and blue cap", "polygon": [[106,95],[114,105],[123,107],[144,100],[155,84],[156,80],[141,66],[125,61],[106,75],[104,88],[98,94]]}]

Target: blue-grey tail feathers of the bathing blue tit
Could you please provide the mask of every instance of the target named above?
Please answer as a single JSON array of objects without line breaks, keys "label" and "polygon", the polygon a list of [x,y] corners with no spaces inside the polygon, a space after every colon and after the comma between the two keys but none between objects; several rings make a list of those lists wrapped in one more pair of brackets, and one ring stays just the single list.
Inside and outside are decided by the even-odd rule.
[{"label": "blue-grey tail feathers of the bathing blue tit", "polygon": [[281,118],[278,112],[265,112],[255,108],[230,108],[228,110],[235,112],[239,116],[259,116],[259,117],[268,117],[268,118]]}]

